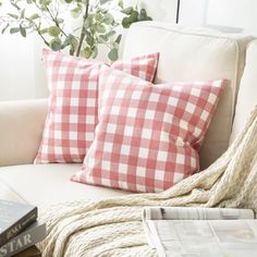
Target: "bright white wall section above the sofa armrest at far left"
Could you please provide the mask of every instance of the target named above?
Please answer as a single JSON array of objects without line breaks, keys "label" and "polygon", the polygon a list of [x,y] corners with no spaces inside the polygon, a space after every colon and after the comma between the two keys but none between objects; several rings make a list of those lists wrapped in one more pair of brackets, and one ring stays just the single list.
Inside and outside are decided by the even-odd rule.
[{"label": "bright white wall section above the sofa armrest at far left", "polygon": [[34,40],[0,35],[0,100],[35,97]]}]

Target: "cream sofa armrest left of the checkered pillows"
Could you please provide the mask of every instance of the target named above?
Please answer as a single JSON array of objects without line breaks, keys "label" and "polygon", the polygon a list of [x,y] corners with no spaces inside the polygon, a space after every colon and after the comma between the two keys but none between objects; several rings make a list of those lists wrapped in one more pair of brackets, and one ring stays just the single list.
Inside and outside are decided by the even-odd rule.
[{"label": "cream sofa armrest left of the checkered pillows", "polygon": [[0,167],[33,163],[47,115],[47,99],[0,102]]}]

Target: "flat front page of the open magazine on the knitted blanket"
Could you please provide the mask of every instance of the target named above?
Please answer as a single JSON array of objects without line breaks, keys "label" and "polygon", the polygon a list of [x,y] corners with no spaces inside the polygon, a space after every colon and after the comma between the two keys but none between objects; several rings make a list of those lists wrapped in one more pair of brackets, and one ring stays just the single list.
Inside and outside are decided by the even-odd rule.
[{"label": "flat front page of the open magazine on the knitted blanket", "polygon": [[148,220],[160,257],[256,257],[256,220]]}]

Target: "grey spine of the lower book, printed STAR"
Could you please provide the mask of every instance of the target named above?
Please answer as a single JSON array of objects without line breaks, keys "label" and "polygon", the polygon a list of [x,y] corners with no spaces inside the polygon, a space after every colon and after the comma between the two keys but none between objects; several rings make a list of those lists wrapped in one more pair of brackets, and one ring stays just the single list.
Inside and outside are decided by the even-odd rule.
[{"label": "grey spine of the lower book, printed STAR", "polygon": [[[32,225],[34,227],[34,225]],[[30,228],[30,227],[29,227]],[[37,224],[25,230],[0,247],[0,257],[11,257],[26,248],[39,243],[46,236],[46,224]]]}]

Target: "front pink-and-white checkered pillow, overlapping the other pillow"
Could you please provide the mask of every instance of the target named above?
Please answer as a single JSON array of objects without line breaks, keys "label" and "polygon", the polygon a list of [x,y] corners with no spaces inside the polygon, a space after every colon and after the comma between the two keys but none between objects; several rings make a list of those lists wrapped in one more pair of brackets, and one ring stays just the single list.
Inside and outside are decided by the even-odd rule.
[{"label": "front pink-and-white checkered pillow, overlapping the other pillow", "polygon": [[161,192],[199,169],[198,148],[224,81],[152,85],[101,66],[94,143],[72,181]]}]

